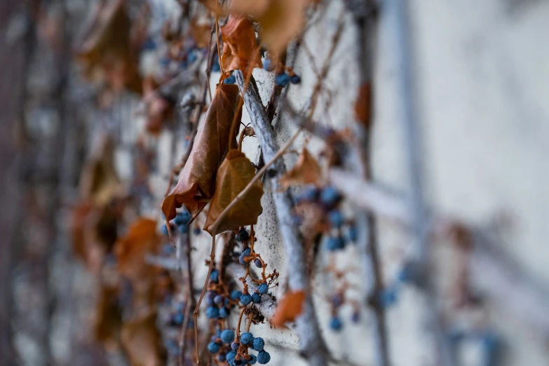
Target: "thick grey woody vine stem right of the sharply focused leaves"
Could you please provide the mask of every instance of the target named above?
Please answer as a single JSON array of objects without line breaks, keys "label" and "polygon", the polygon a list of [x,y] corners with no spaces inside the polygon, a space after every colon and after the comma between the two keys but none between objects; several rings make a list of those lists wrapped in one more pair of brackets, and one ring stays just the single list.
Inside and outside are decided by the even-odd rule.
[{"label": "thick grey woody vine stem right of the sharply focused leaves", "polygon": [[[240,90],[244,89],[245,79],[242,72],[235,72],[236,81]],[[264,158],[271,161],[278,153],[278,144],[274,136],[269,118],[266,116],[263,104],[259,101],[259,92],[252,83],[245,90],[244,102],[252,126],[255,130],[259,144],[261,145]],[[283,161],[278,160],[273,164],[273,170],[276,175],[285,172]],[[293,199],[289,191],[282,191],[278,184],[278,177],[271,177],[273,187],[273,201],[275,203],[278,215],[280,233],[283,237],[284,248],[287,255],[288,264],[288,285],[292,291],[305,291],[310,294],[310,283],[306,273],[305,254],[303,243],[299,231],[292,223]],[[320,337],[320,328],[316,319],[315,309],[311,296],[307,296],[304,301],[303,312],[296,320],[297,332],[301,337],[301,351],[309,361],[309,365],[324,366],[327,365],[327,349],[322,337]]]}]

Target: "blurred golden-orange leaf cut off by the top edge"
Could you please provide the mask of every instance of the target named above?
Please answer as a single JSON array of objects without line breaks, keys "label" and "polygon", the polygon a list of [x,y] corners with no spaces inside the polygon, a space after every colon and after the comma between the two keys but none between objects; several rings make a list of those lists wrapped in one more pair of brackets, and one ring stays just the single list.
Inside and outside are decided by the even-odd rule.
[{"label": "blurred golden-orange leaf cut off by the top edge", "polygon": [[259,35],[273,53],[280,55],[297,36],[310,0],[233,0],[231,12],[252,15],[261,26]]}]

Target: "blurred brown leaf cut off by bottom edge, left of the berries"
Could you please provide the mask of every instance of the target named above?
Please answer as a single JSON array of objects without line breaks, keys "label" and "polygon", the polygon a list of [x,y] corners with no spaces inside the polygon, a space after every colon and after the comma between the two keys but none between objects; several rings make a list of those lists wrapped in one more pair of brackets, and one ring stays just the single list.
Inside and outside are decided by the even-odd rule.
[{"label": "blurred brown leaf cut off by bottom edge, left of the berries", "polygon": [[123,323],[121,343],[131,366],[165,365],[165,350],[156,327],[156,313]]}]

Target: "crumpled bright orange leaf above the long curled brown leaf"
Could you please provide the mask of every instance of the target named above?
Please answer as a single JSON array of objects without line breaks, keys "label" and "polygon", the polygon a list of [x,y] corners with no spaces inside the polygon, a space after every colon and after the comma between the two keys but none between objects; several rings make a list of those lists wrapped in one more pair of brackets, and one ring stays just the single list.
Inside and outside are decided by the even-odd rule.
[{"label": "crumpled bright orange leaf above the long curled brown leaf", "polygon": [[254,27],[248,18],[231,15],[220,30],[223,39],[221,62],[225,72],[222,78],[229,77],[233,70],[246,73],[248,67],[262,67]]}]

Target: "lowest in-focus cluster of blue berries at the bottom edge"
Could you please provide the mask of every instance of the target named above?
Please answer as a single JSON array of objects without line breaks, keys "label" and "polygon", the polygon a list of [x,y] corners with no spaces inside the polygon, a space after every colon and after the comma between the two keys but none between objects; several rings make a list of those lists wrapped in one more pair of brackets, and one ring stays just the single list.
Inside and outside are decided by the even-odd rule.
[{"label": "lowest in-focus cluster of blue berries at the bottom edge", "polygon": [[[251,332],[235,334],[232,330],[218,331],[208,344],[208,351],[217,354],[218,362],[227,362],[229,366],[266,365],[271,360],[269,352],[264,350],[265,341],[261,337],[254,337]],[[257,355],[250,354],[250,349],[257,351]]]}]

